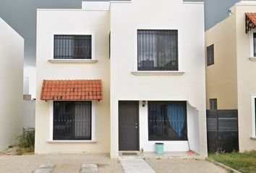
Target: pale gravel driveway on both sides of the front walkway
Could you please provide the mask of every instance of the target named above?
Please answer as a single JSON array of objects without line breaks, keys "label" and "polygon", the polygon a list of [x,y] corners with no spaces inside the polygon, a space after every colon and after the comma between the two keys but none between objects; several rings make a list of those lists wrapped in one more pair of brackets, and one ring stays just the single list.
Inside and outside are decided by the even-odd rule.
[{"label": "pale gravel driveway on both sides of the front walkway", "polygon": [[[179,159],[146,159],[155,172],[166,173],[226,173],[208,161]],[[40,164],[56,164],[54,173],[75,173],[81,164],[98,164],[99,172],[121,173],[123,169],[117,159],[109,159],[108,154],[47,154],[7,156],[0,155],[1,173],[31,173]]]}]

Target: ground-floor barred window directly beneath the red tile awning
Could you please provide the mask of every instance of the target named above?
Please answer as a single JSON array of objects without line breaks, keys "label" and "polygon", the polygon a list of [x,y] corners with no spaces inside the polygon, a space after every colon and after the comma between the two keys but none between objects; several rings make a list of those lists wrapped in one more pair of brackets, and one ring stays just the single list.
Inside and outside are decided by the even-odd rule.
[{"label": "ground-floor barred window directly beneath the red tile awning", "polygon": [[54,140],[91,140],[92,102],[54,102]]}]

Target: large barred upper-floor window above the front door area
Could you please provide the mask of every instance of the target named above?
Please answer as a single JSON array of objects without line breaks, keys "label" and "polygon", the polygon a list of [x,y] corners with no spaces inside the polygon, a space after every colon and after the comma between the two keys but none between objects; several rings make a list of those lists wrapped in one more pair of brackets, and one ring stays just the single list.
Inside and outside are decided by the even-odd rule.
[{"label": "large barred upper-floor window above the front door area", "polygon": [[178,71],[178,30],[137,30],[138,71]]}]

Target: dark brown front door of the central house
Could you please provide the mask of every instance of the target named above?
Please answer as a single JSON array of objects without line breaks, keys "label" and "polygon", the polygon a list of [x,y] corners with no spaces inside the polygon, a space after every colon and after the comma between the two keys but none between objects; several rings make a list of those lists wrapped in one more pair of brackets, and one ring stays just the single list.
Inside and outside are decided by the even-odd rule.
[{"label": "dark brown front door of the central house", "polygon": [[139,151],[138,101],[119,101],[119,151]]}]

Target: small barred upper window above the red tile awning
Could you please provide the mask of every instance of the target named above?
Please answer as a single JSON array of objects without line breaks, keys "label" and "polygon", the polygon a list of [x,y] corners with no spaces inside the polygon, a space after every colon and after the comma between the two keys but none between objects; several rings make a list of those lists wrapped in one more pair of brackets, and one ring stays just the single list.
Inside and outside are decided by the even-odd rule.
[{"label": "small barred upper window above the red tile awning", "polygon": [[91,59],[92,35],[54,35],[54,59]]}]

